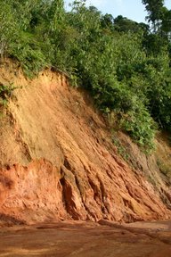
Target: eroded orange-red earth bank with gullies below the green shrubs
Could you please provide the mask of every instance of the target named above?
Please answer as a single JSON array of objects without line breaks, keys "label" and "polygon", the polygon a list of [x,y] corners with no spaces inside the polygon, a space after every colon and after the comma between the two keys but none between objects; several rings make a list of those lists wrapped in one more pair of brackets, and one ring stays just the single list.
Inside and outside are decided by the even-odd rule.
[{"label": "eroded orange-red earth bank with gullies below the green shrubs", "polygon": [[0,82],[19,87],[0,120],[1,220],[171,217],[150,181],[118,156],[88,96],[64,76],[45,70],[31,81],[7,63]]}]

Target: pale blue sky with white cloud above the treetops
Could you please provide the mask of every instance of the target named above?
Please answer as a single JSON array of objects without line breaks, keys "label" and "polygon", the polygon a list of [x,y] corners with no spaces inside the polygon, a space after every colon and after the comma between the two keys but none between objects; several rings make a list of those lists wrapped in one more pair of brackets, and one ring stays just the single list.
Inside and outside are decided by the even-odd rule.
[{"label": "pale blue sky with white cloud above the treetops", "polygon": [[[66,6],[71,2],[72,0],[65,0]],[[97,7],[102,13],[112,14],[114,18],[121,14],[133,21],[144,22],[147,15],[141,0],[86,0],[86,2]],[[171,9],[170,0],[166,0],[165,5]]]}]

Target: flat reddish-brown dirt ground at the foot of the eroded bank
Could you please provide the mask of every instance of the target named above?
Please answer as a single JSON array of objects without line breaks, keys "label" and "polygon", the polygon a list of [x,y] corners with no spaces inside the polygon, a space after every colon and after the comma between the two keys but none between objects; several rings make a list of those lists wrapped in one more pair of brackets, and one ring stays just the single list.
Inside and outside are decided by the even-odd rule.
[{"label": "flat reddish-brown dirt ground at the foot of the eroded bank", "polygon": [[171,222],[101,220],[0,229],[0,256],[170,257]]}]

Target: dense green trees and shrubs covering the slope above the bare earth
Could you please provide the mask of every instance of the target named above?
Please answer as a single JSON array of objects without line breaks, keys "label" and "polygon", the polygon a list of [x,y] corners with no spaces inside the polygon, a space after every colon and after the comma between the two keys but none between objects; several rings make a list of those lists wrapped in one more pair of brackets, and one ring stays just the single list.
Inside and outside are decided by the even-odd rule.
[{"label": "dense green trees and shrubs covering the slope above the bare earth", "polygon": [[85,1],[66,12],[62,0],[0,0],[1,60],[18,60],[28,76],[47,66],[67,71],[149,151],[156,129],[171,128],[171,11],[162,0],[142,4],[149,25]]}]

